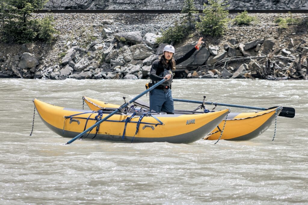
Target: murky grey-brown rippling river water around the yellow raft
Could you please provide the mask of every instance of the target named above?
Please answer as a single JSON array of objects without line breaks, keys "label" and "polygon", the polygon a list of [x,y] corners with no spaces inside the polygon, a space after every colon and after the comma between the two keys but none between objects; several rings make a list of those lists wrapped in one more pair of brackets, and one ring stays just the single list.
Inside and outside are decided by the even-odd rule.
[{"label": "murky grey-brown rippling river water around the yellow raft", "polygon": [[[0,79],[0,204],[308,203],[308,81],[174,80],[174,98],[294,107],[294,118],[278,117],[274,141],[273,124],[241,142],[64,145],[68,138],[51,132],[37,113],[29,136],[33,98],[71,108],[82,108],[82,96],[123,104],[146,82]],[[177,109],[192,107],[175,102]]]}]

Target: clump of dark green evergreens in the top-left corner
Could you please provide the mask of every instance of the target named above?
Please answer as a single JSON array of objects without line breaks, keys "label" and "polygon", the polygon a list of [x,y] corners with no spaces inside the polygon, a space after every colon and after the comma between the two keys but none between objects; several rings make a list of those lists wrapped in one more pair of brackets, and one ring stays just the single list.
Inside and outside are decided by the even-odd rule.
[{"label": "clump of dark green evergreens in the top-left corner", "polygon": [[[34,10],[42,9],[47,0],[2,0],[0,40],[10,43],[28,43],[36,40],[51,42],[56,31],[47,16],[39,21],[32,18]],[[52,32],[46,34],[46,30]],[[47,38],[48,39],[47,39]]]}]

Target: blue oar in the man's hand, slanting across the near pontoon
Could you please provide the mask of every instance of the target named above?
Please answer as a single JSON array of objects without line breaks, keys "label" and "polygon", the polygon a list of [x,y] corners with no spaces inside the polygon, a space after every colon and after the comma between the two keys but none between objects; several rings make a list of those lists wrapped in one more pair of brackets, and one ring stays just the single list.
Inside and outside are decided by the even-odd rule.
[{"label": "blue oar in the man's hand, slanting across the near pontoon", "polygon": [[150,92],[151,90],[153,90],[154,88],[156,88],[158,85],[162,84],[164,81],[166,81],[166,78],[164,78],[163,80],[159,81],[158,83],[152,85],[149,89],[145,90],[144,92],[140,93],[138,96],[134,97],[132,100],[128,101],[127,103],[122,104],[118,109],[116,109],[115,111],[111,112],[108,116],[104,117],[103,119],[99,120],[97,123],[93,124],[91,127],[87,128],[85,131],[81,132],[79,135],[75,136],[73,139],[71,139],[70,141],[68,141],[66,144],[71,144],[72,142],[74,142],[75,140],[79,139],[80,137],[82,137],[84,134],[86,134],[87,132],[89,132],[90,130],[92,130],[93,128],[95,128],[97,125],[101,124],[103,121],[107,120],[109,117],[113,116],[115,113],[121,111],[123,108],[125,108],[126,106],[128,106],[129,104],[131,104],[132,102],[136,101],[138,98],[140,98],[141,96],[143,96],[145,93]]}]

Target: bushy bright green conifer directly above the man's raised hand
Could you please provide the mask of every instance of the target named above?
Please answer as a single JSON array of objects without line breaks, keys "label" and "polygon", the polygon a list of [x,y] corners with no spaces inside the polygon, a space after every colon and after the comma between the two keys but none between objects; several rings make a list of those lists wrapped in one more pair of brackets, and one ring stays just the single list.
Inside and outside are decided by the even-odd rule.
[{"label": "bushy bright green conifer directly above the man's raised hand", "polygon": [[226,3],[226,1],[209,0],[209,5],[204,4],[204,15],[201,16],[201,22],[197,23],[197,29],[201,34],[213,37],[224,34],[229,22],[229,11],[225,10],[228,6]]}]

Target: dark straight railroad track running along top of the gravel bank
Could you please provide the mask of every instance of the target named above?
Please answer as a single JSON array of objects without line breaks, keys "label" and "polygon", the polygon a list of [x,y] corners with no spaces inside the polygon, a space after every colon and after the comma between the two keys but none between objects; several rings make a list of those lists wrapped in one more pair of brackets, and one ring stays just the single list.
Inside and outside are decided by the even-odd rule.
[{"label": "dark straight railroad track running along top of the gravel bank", "polygon": [[[203,10],[196,10],[202,13]],[[241,13],[244,10],[229,10],[230,14]],[[248,13],[308,13],[308,10],[247,10]],[[181,10],[81,10],[81,9],[66,9],[66,10],[36,10],[34,13],[89,13],[89,14],[176,14],[181,13]]]}]

